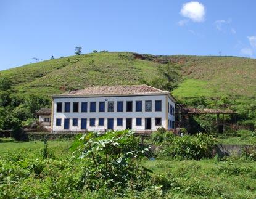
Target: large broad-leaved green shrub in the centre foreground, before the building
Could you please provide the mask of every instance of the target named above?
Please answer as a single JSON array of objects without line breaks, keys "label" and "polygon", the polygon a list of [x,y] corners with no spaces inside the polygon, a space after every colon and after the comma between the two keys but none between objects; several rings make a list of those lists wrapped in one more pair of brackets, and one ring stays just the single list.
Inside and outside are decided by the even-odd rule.
[{"label": "large broad-leaved green shrub in the centre foreground, before the building", "polygon": [[149,170],[140,166],[139,159],[149,149],[139,145],[132,131],[90,133],[83,135],[79,142],[79,158],[86,162],[78,183],[81,188],[98,190],[105,187],[121,192],[132,186],[134,190],[142,190],[138,181],[148,181]]}]

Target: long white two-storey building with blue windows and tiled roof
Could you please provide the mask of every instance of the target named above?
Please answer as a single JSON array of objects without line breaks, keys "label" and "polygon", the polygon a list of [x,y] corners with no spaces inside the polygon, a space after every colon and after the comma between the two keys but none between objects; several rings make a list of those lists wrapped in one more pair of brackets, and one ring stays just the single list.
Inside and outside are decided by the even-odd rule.
[{"label": "long white two-storey building with blue windows and tiled roof", "polygon": [[147,85],[88,87],[52,99],[52,132],[174,128],[175,99]]}]

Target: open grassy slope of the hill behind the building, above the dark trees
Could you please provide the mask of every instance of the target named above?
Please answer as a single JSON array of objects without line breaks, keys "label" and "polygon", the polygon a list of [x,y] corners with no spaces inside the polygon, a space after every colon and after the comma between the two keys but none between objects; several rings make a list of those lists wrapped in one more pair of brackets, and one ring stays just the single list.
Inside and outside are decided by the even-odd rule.
[{"label": "open grassy slope of the hill behind the building, above the dark trees", "polygon": [[155,56],[101,52],[31,63],[0,71],[19,94],[59,94],[94,85],[139,84],[159,76],[157,66],[178,62],[183,82],[173,91],[187,97],[256,96],[256,60],[242,57]]}]

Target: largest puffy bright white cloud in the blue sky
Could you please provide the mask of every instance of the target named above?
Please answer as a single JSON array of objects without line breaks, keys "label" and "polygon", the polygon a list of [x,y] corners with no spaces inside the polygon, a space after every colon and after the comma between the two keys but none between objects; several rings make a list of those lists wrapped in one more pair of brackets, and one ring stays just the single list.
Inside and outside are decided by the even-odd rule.
[{"label": "largest puffy bright white cloud in the blue sky", "polygon": [[180,14],[190,18],[193,22],[203,22],[205,20],[205,7],[198,1],[191,1],[183,4]]}]

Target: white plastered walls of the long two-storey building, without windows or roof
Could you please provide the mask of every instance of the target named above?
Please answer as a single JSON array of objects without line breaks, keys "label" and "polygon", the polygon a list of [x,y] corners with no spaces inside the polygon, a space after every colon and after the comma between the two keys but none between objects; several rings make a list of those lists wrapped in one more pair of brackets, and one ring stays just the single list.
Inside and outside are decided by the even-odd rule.
[{"label": "white plastered walls of the long two-storey building, without windows or roof", "polygon": [[[87,118],[88,131],[107,129],[107,118],[114,118],[114,129],[121,130],[126,128],[126,118],[132,118],[132,126],[136,131],[145,129],[144,118],[152,118],[152,131],[156,131],[160,126],[155,126],[155,118],[162,118],[162,126],[165,128],[168,120],[166,118],[166,99],[167,95],[147,95],[147,96],[120,96],[120,97],[67,97],[54,98],[54,116],[52,131],[64,131],[64,118],[70,118],[70,129],[68,131],[81,130],[81,118]],[[142,100],[142,112],[136,112],[136,100]],[[145,100],[152,100],[152,112],[145,112]],[[162,100],[162,111],[155,112],[155,100]],[[169,99],[170,100],[170,99]],[[114,101],[114,112],[107,112],[107,102]],[[117,112],[117,101],[123,101],[123,112]],[[133,112],[126,112],[126,101],[133,101]],[[62,102],[62,113],[57,113],[57,102]],[[64,113],[64,102],[70,102],[70,113]],[[73,102],[79,102],[79,112],[73,113]],[[88,112],[81,113],[81,102],[88,102]],[[90,113],[90,102],[96,102],[96,112]],[[105,112],[99,112],[99,102],[105,102]],[[171,100],[170,100],[171,102]],[[171,102],[173,104],[173,102]],[[56,118],[62,118],[61,126],[56,126]],[[72,126],[72,118],[78,118],[78,126]],[[89,118],[96,118],[96,126],[89,126]],[[104,126],[98,126],[98,118],[105,118]],[[123,118],[123,126],[117,126],[117,118]],[[142,118],[142,125],[136,126],[136,118]],[[170,115],[170,118],[173,116]]]}]

